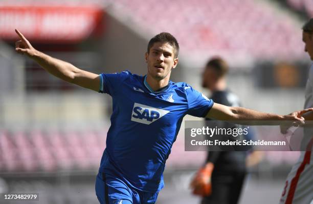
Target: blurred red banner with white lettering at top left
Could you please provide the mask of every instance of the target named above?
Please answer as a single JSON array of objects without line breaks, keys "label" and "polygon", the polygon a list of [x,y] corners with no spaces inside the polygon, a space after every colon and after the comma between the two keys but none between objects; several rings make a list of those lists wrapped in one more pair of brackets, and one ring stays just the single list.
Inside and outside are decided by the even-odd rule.
[{"label": "blurred red banner with white lettering at top left", "polygon": [[97,7],[0,6],[0,38],[15,40],[18,29],[32,41],[79,42],[96,29],[102,16]]}]

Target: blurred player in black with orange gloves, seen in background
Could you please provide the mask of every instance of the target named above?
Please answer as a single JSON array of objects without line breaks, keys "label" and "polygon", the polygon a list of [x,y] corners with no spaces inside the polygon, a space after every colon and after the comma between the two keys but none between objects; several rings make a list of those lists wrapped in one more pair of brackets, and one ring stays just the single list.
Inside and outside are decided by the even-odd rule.
[{"label": "blurred player in black with orange gloves, seen in background", "polygon": [[[225,60],[220,57],[211,58],[202,75],[202,86],[211,91],[210,98],[215,103],[225,106],[241,106],[238,96],[227,88],[228,71],[229,66]],[[227,128],[229,124],[220,121],[218,127]],[[249,131],[249,136],[253,137],[251,131]],[[246,151],[208,152],[204,167],[199,169],[191,183],[193,193],[203,196],[202,204],[238,202],[247,173],[247,163],[249,166],[254,165],[261,158],[259,152],[253,152],[249,160],[247,155]]]}]

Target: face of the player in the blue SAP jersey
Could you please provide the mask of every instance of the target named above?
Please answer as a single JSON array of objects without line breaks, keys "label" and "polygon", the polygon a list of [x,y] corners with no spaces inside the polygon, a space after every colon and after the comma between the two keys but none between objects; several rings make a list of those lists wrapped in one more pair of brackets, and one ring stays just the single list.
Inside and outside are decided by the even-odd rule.
[{"label": "face of the player in the blue SAP jersey", "polygon": [[174,49],[168,43],[154,43],[145,58],[148,64],[148,75],[157,80],[169,78],[171,70],[178,63],[178,58],[174,57]]}]

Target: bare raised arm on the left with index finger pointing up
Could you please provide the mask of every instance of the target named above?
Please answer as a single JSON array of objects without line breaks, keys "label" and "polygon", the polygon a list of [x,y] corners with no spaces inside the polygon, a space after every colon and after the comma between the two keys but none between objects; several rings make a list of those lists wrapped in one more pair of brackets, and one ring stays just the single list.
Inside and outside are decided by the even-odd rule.
[{"label": "bare raised arm on the left with index finger pointing up", "polygon": [[60,59],[53,58],[47,54],[39,52],[29,43],[29,41],[15,29],[20,40],[15,43],[15,50],[21,54],[27,54],[35,60],[43,69],[50,74],[68,81],[78,86],[99,91],[100,78],[99,75],[78,69],[70,63],[66,63]]}]

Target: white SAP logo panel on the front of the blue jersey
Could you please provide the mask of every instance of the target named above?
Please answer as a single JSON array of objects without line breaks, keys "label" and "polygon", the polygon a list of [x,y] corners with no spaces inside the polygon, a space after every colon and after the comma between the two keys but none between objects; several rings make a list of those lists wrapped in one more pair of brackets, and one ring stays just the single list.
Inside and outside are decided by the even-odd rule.
[{"label": "white SAP logo panel on the front of the blue jersey", "polygon": [[149,125],[167,113],[169,113],[167,110],[135,103],[132,109],[131,121]]}]

